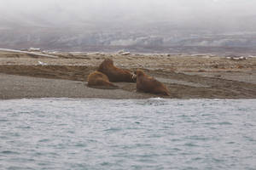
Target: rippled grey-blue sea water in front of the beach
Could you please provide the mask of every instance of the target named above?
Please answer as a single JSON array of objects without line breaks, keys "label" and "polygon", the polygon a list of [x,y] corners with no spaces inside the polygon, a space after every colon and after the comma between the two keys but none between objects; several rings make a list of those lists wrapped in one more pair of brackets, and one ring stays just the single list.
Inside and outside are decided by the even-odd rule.
[{"label": "rippled grey-blue sea water in front of the beach", "polygon": [[0,169],[256,169],[256,99],[0,100]]}]

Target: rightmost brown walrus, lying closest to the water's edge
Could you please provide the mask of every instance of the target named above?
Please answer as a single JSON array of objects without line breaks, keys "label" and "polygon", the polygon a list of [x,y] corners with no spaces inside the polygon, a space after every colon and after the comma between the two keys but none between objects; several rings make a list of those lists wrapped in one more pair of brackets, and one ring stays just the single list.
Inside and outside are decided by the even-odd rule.
[{"label": "rightmost brown walrus, lying closest to the water's edge", "polygon": [[149,94],[160,94],[160,95],[170,95],[169,90],[166,86],[153,77],[149,77],[143,71],[137,70],[137,91],[142,91]]}]

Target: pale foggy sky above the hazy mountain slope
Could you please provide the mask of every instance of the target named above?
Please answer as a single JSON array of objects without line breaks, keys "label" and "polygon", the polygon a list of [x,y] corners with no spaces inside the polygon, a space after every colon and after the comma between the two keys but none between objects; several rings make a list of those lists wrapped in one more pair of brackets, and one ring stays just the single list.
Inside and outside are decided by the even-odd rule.
[{"label": "pale foggy sky above the hazy mountain slope", "polygon": [[256,18],[256,0],[0,0],[0,24],[68,26],[125,21],[186,25],[222,20],[222,25],[230,25],[242,17]]}]

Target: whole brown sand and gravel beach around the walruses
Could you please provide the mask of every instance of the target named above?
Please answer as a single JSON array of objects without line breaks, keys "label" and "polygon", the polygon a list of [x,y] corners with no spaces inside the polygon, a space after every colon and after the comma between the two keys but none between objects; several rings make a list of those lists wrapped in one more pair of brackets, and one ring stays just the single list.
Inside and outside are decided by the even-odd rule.
[{"label": "whole brown sand and gravel beach around the walruses", "polygon": [[136,83],[117,82],[119,89],[86,86],[86,77],[103,59],[166,84],[170,99],[256,99],[256,59],[143,54],[55,53],[57,59],[0,52],[0,99],[162,97],[136,92]]}]

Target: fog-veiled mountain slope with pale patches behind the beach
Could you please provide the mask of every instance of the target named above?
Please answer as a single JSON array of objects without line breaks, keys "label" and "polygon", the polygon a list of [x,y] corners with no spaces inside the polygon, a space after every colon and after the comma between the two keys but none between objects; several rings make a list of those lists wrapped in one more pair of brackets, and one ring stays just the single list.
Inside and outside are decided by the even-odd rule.
[{"label": "fog-veiled mountain slope with pale patches behind the beach", "polygon": [[[38,47],[51,50],[88,50],[89,47],[150,47],[152,51],[168,47],[256,47],[256,16],[213,22],[191,19],[188,22],[150,21],[131,18],[86,21],[0,16],[0,48]],[[139,22],[141,21],[141,22]],[[254,32],[253,32],[254,31]],[[99,48],[101,49],[101,48]],[[111,48],[112,49],[112,48]],[[114,48],[115,49],[115,48]],[[148,49],[146,49],[147,51]]]}]

